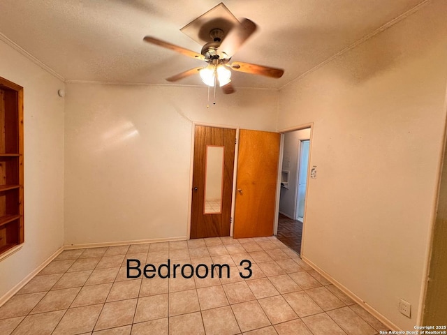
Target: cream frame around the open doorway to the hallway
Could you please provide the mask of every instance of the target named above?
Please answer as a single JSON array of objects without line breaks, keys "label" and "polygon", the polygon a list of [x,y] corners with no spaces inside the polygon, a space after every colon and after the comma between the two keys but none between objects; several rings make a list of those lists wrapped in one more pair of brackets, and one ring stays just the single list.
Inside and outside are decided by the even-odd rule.
[{"label": "cream frame around the open doorway to the hallway", "polygon": [[[279,196],[281,195],[281,171],[282,171],[282,160],[284,155],[284,134],[289,133],[291,131],[301,131],[302,129],[310,128],[310,145],[309,145],[309,161],[307,162],[307,187],[306,187],[306,195],[305,198],[308,198],[309,193],[309,177],[310,177],[310,167],[311,167],[311,161],[312,161],[312,143],[313,143],[313,137],[314,137],[314,122],[309,122],[309,124],[301,124],[299,126],[293,126],[289,128],[282,128],[279,129],[278,133],[281,133],[281,145],[279,147],[279,168],[278,168],[278,186],[277,186],[277,206],[276,206],[276,212],[279,213]],[[305,217],[303,218],[302,222],[302,237],[301,237],[301,250],[300,255],[302,256],[305,251],[305,228],[306,228],[306,218],[307,218],[307,204],[309,202],[305,202]],[[278,216],[276,216],[275,222],[274,222],[274,234],[278,234]]]}]

